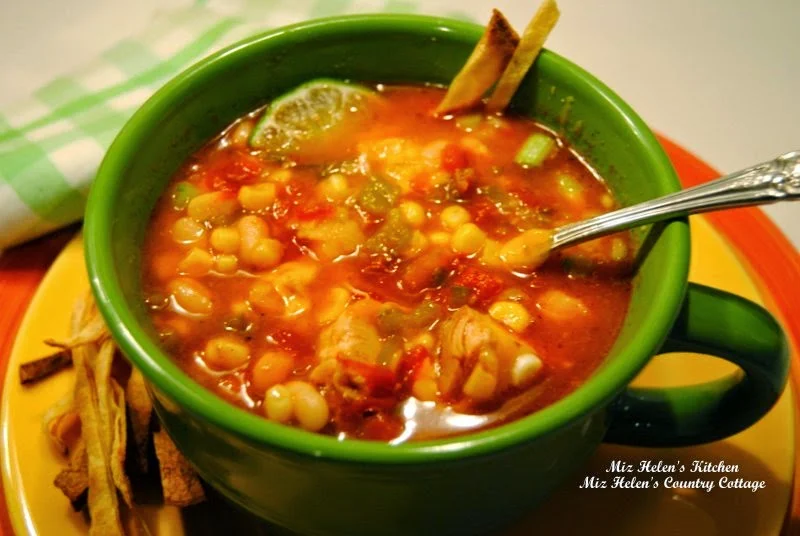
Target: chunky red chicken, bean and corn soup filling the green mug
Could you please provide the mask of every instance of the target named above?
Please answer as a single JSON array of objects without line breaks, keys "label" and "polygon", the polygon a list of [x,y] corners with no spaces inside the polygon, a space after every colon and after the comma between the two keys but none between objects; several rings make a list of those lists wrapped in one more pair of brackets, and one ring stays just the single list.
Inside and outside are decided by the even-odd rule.
[{"label": "chunky red chicken, bean and corn soup filling the green mug", "polygon": [[151,216],[143,298],[187,374],[272,421],[393,443],[528,415],[592,374],[633,241],[540,246],[616,201],[551,131],[436,116],[443,95],[307,84],[185,162]]}]

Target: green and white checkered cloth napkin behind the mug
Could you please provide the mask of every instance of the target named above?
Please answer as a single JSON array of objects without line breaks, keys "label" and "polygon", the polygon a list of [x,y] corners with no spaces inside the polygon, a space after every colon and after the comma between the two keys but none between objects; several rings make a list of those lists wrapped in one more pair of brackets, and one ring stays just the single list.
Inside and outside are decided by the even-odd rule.
[{"label": "green and white checkered cloth napkin behind the mug", "polygon": [[[425,11],[470,18],[447,4],[457,5],[428,2]],[[248,35],[309,18],[417,8],[416,0],[195,0],[162,13],[142,34],[0,110],[0,250],[80,220],[117,132],[188,65]]]}]

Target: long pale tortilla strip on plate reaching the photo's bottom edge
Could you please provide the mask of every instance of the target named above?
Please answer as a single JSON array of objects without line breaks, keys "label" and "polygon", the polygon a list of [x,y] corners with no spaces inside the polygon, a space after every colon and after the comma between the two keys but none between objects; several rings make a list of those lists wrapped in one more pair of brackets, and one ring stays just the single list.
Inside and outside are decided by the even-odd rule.
[{"label": "long pale tortilla strip on plate reaching the photo's bottom edge", "polygon": [[[113,353],[113,352],[112,352]],[[73,350],[75,361],[75,403],[81,417],[81,433],[86,443],[89,475],[88,506],[92,523],[91,536],[122,536],[117,488],[108,460],[107,434],[102,424],[93,364],[97,358],[95,345],[83,345]],[[110,367],[109,367],[110,368]]]}]

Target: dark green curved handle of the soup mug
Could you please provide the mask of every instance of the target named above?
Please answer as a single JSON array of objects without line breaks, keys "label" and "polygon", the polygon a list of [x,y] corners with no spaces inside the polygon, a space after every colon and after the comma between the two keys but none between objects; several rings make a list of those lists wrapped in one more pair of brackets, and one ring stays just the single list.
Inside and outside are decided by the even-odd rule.
[{"label": "dark green curved handle of the soup mug", "polygon": [[689,283],[678,319],[659,353],[721,357],[740,370],[700,385],[628,387],[609,407],[603,441],[679,447],[716,441],[751,426],[783,392],[789,348],[764,308],[739,296]]}]

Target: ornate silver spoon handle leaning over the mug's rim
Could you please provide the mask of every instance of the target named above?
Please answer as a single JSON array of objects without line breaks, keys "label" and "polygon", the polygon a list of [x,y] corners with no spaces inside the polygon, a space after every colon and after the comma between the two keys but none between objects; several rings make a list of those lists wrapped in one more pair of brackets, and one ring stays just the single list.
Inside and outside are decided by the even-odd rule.
[{"label": "ornate silver spoon handle leaning over the mug's rim", "polygon": [[551,249],[677,216],[800,199],[800,151],[553,231]]}]

